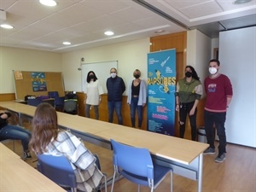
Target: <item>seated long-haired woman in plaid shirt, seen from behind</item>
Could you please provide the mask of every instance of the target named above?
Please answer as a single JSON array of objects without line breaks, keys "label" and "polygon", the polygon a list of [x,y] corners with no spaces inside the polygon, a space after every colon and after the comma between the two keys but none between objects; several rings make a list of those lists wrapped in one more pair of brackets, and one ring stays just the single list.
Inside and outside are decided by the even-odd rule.
[{"label": "seated long-haired woman in plaid shirt, seen from behind", "polygon": [[36,109],[30,147],[35,154],[65,155],[73,166],[79,190],[95,191],[102,181],[94,155],[78,137],[58,129],[57,113],[49,103],[43,102]]}]

